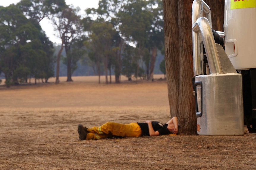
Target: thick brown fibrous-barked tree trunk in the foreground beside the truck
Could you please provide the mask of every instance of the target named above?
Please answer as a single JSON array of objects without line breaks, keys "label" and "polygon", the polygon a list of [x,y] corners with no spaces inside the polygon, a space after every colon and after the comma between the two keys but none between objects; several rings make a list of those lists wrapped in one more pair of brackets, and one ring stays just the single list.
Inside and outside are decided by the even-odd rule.
[{"label": "thick brown fibrous-barked tree trunk in the foreground beside the truck", "polygon": [[171,117],[185,135],[197,134],[193,77],[191,0],[163,0],[165,64]]}]

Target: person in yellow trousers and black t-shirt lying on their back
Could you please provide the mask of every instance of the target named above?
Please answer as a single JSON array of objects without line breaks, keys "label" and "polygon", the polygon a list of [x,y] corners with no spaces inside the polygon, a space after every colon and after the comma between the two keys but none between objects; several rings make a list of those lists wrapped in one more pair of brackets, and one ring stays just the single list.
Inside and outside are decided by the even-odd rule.
[{"label": "person in yellow trousers and black t-shirt lying on their back", "polygon": [[180,134],[181,127],[177,117],[173,117],[166,124],[146,121],[144,123],[121,124],[107,122],[99,127],[86,128],[78,124],[80,140],[105,139],[110,137],[140,137]]}]

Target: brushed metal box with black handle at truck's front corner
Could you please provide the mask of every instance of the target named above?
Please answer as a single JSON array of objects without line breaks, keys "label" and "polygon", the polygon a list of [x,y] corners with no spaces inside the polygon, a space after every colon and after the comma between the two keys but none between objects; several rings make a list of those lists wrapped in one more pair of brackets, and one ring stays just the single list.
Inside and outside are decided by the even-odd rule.
[{"label": "brushed metal box with black handle at truck's front corner", "polygon": [[197,134],[244,135],[241,74],[195,78]]}]

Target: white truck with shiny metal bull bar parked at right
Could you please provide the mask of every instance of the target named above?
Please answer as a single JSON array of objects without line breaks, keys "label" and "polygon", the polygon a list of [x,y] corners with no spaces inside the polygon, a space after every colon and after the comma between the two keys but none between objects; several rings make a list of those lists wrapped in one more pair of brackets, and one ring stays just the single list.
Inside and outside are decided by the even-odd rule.
[{"label": "white truck with shiny metal bull bar parked at right", "polygon": [[256,0],[225,0],[224,32],[203,0],[192,5],[197,134],[256,132]]}]

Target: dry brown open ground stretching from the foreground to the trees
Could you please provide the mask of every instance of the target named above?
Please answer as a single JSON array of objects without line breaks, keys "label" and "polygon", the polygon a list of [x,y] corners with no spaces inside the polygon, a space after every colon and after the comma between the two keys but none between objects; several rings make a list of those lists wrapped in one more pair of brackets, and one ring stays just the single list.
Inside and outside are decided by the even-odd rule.
[{"label": "dry brown open ground stretching from the foreground to the trees", "polygon": [[[64,81],[65,78],[63,78]],[[166,81],[0,87],[0,169],[256,169],[256,134],[80,141],[77,125],[170,119]],[[53,82],[54,80],[52,80]],[[246,130],[246,129],[245,129]]]}]

